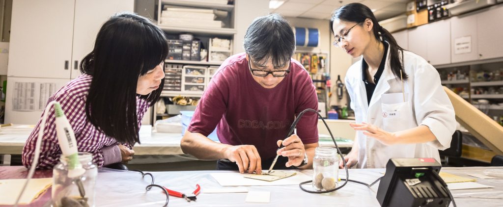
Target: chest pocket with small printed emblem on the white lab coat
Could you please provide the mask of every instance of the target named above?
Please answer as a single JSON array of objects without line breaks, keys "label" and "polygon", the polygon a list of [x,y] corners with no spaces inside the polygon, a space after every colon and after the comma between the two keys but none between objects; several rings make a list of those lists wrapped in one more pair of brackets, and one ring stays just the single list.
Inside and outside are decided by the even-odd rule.
[{"label": "chest pocket with small printed emblem on the white lab coat", "polygon": [[397,104],[381,104],[383,130],[386,132],[398,132],[410,129],[412,112],[409,101]]}]

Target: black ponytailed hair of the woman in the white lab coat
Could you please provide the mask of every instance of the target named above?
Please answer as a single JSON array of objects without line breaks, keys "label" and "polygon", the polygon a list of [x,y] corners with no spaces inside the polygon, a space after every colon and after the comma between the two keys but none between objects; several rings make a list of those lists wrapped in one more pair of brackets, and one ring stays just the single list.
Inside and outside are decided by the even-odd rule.
[{"label": "black ponytailed hair of the woman in the white lab coat", "polygon": [[395,38],[393,38],[393,35],[391,35],[388,30],[379,25],[379,22],[374,16],[374,13],[372,13],[372,10],[370,10],[367,6],[360,3],[351,3],[339,8],[335,13],[332,14],[332,17],[330,18],[330,31],[332,32],[332,34],[334,34],[332,25],[336,19],[345,22],[363,23],[367,18],[370,19],[374,24],[374,28],[372,29],[374,37],[378,41],[380,41],[380,37],[382,37],[383,41],[387,41],[389,43],[389,63],[391,72],[393,72],[395,77],[399,78],[401,70],[403,80],[407,80],[408,75],[403,70],[402,62],[400,61],[401,54],[398,52],[403,52],[404,49],[401,48],[398,43],[396,43]]}]

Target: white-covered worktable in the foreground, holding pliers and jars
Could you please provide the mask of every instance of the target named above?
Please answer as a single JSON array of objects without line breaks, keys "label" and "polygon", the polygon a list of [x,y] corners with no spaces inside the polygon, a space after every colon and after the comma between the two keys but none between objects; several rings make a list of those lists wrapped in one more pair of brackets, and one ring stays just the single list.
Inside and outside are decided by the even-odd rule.
[{"label": "white-covered worktable in the foreground, holding pliers and jars", "polygon": [[[464,177],[467,174],[486,174],[492,179],[477,178],[477,183],[492,186],[492,188],[451,190],[457,206],[503,206],[503,167],[460,167],[442,168],[443,172]],[[51,177],[52,170],[35,173],[35,177]],[[196,184],[202,192],[197,201],[188,203],[185,199],[170,196],[169,206],[380,206],[376,199],[379,183],[371,188],[362,184],[348,182],[346,186],[334,193],[311,194],[303,192],[295,185],[272,186],[241,186],[248,191],[268,191],[271,193],[268,203],[245,202],[247,193],[205,193],[208,188],[222,188],[210,173],[226,173],[230,171],[170,171],[151,172],[155,184],[172,190],[190,193]],[[300,171],[312,176],[312,170]],[[365,183],[371,183],[383,176],[385,169],[350,169],[349,178]],[[25,178],[27,169],[22,166],[0,167],[0,179]],[[340,177],[345,177],[344,171],[339,171]],[[473,177],[471,177],[473,178]],[[96,206],[162,206],[165,194],[159,188],[145,191],[150,184],[150,176],[142,178],[138,172],[100,168],[96,181]],[[309,185],[306,185],[309,187]],[[231,188],[231,187],[226,187]],[[50,190],[37,198],[34,203],[42,206],[50,199]],[[452,206],[452,203],[451,203]]]}]

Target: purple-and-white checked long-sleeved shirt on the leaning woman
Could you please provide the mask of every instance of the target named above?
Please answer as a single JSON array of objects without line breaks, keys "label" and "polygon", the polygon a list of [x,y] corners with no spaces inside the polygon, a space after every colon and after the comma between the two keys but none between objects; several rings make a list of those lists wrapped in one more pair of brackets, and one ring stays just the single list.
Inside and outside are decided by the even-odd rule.
[{"label": "purple-and-white checked long-sleeved shirt on the leaning woman", "polygon": [[[101,167],[121,162],[122,156],[117,146],[120,143],[114,138],[108,137],[103,132],[99,131],[86,117],[86,99],[92,79],[93,77],[91,75],[80,75],[54,93],[47,103],[56,100],[61,104],[61,108],[75,132],[78,151],[92,153],[93,162]],[[136,100],[138,128],[140,128],[141,119],[148,110],[149,103],[142,98],[137,98]],[[54,108],[52,108],[49,111],[46,126],[44,128],[37,168],[52,168],[59,162],[61,149],[58,145],[54,121]],[[38,139],[40,122],[42,122],[42,119],[37,123],[23,148],[23,165],[27,168],[31,166],[33,158],[35,157],[35,145]],[[132,148],[132,146],[127,144],[123,145]]]}]

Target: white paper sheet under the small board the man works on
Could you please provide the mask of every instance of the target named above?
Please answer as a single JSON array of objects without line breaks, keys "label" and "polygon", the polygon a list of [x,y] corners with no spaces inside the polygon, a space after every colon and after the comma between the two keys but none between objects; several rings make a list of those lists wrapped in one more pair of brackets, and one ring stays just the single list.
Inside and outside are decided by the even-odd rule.
[{"label": "white paper sheet under the small board the man works on", "polygon": [[264,181],[243,177],[239,172],[211,173],[211,176],[222,186],[258,186],[258,185],[298,185],[311,177],[297,172],[296,175],[275,181]]}]

